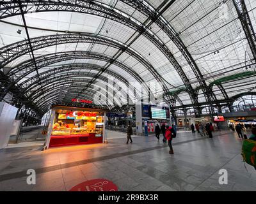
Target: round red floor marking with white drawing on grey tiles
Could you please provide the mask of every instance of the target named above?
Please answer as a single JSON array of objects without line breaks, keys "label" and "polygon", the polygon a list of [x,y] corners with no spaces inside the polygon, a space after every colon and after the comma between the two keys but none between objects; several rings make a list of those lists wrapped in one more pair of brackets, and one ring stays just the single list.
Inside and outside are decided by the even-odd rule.
[{"label": "round red floor marking with white drawing on grey tiles", "polygon": [[69,191],[118,191],[118,188],[110,180],[93,179],[77,184]]}]

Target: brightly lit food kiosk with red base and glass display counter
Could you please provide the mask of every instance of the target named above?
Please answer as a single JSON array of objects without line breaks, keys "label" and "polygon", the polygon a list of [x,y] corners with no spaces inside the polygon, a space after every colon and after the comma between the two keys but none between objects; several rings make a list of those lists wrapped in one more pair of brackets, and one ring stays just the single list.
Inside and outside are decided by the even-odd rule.
[{"label": "brightly lit food kiosk with red base and glass display counter", "polygon": [[104,142],[106,112],[92,108],[52,106],[45,149]]}]

